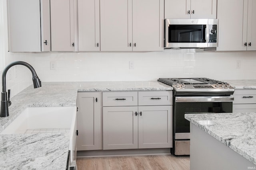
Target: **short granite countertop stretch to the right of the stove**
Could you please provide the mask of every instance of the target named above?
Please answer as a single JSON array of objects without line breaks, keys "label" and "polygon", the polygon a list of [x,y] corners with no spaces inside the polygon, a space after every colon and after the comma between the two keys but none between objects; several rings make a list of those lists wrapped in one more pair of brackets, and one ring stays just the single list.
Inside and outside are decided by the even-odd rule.
[{"label": "short granite countertop stretch to the right of the stove", "polygon": [[256,80],[222,80],[235,89],[256,89]]}]

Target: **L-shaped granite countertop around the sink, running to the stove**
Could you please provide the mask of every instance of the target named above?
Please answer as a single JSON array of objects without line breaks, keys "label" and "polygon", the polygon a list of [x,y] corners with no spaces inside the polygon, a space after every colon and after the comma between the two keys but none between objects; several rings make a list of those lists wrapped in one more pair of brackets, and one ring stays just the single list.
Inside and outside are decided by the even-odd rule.
[{"label": "L-shaped granite countertop around the sink, running to the stove", "polygon": [[[76,106],[77,92],[129,90],[173,88],[158,81],[42,82],[42,87],[31,85],[11,98],[9,117],[0,117],[0,132],[27,107]],[[69,138],[68,133],[0,135],[0,168],[66,170]]]}]

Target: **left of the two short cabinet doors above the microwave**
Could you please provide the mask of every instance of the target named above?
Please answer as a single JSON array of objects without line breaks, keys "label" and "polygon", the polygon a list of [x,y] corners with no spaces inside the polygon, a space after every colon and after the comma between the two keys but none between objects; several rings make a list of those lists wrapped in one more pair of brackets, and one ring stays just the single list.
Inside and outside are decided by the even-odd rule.
[{"label": "left of the two short cabinet doors above the microwave", "polygon": [[165,0],[164,18],[167,19],[189,19],[190,0]]}]

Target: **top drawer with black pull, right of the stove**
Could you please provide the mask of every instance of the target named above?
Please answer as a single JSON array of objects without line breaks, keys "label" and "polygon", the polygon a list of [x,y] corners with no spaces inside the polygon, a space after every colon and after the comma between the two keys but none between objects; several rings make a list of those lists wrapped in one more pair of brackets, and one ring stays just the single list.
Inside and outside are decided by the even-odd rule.
[{"label": "top drawer with black pull, right of the stove", "polygon": [[233,104],[256,104],[256,90],[235,90]]}]

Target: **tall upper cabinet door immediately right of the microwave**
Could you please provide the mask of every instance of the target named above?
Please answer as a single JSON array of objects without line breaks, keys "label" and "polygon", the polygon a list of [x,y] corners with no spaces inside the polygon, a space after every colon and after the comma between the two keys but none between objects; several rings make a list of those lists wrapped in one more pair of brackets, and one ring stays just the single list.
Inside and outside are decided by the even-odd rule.
[{"label": "tall upper cabinet door immediately right of the microwave", "polygon": [[220,0],[217,51],[246,51],[247,0]]}]

